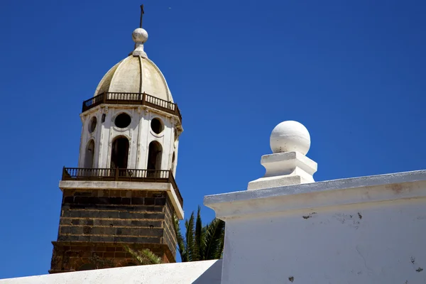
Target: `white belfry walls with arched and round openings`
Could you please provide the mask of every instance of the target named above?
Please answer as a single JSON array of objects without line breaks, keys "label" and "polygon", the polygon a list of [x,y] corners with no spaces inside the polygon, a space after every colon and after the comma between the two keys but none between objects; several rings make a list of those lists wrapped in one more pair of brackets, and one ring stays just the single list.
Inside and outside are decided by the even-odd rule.
[{"label": "white belfry walls with arched and round openings", "polygon": [[[117,115],[126,113],[131,116],[131,124],[125,129],[119,129],[114,124]],[[102,116],[105,116],[102,122]],[[93,116],[97,117],[97,127],[89,133],[89,124]],[[163,148],[161,155],[161,170],[172,170],[175,175],[178,165],[178,140],[175,141],[175,131],[178,120],[160,111],[144,107],[108,106],[97,107],[81,115],[82,138],[80,141],[80,158],[78,167],[84,168],[87,144],[94,140],[94,168],[110,168],[111,146],[117,136],[129,139],[129,158],[127,168],[146,169],[148,163],[148,149],[152,141],[158,141]],[[164,129],[161,133],[154,133],[151,129],[151,120],[160,119]],[[172,167],[173,153],[175,163]]]}]

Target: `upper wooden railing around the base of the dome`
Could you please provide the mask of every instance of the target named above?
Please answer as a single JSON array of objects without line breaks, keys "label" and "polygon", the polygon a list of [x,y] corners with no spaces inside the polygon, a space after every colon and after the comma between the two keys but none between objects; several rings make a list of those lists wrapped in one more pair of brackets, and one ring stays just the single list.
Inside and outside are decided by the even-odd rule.
[{"label": "upper wooden railing around the base of the dome", "polygon": [[138,104],[153,107],[154,109],[178,116],[180,123],[182,123],[182,116],[180,115],[178,104],[165,101],[164,99],[158,99],[158,97],[153,97],[146,93],[104,92],[98,94],[96,97],[85,100],[83,102],[82,112],[92,109],[99,104]]}]

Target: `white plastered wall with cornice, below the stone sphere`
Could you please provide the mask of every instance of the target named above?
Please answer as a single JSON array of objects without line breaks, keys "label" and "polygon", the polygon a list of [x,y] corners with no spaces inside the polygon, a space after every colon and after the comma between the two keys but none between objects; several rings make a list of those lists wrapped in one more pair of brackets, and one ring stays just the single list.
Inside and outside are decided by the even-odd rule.
[{"label": "white plastered wall with cornice, below the stone sphere", "polygon": [[222,284],[426,283],[426,171],[205,197]]}]

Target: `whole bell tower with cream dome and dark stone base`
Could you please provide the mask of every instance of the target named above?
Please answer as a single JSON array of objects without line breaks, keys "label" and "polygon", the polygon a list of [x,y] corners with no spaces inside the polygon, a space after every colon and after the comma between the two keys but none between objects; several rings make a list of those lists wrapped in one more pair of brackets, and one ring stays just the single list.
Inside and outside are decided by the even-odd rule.
[{"label": "whole bell tower with cream dome and dark stone base", "polygon": [[77,168],[63,168],[58,240],[50,273],[130,266],[123,244],[175,262],[175,182],[182,116],[165,77],[148,59],[148,33],[82,104]]}]

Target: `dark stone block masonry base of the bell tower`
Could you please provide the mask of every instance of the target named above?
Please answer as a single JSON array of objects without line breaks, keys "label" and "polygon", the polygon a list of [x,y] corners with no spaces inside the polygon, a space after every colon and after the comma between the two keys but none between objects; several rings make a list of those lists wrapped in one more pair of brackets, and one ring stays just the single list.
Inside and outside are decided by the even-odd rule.
[{"label": "dark stone block masonry base of the bell tower", "polygon": [[[104,245],[108,243],[115,245]],[[58,259],[87,258],[89,254],[97,252],[97,256],[114,258],[115,262],[121,263],[118,258],[123,260],[129,258],[122,251],[121,244],[138,244],[140,248],[151,249],[164,261],[174,262],[176,243],[173,205],[167,192],[144,190],[63,192],[58,242],[55,242],[53,252],[53,256]],[[102,251],[106,248],[108,251]],[[56,266],[63,265],[58,263]],[[52,267],[52,269],[60,268]]]}]

